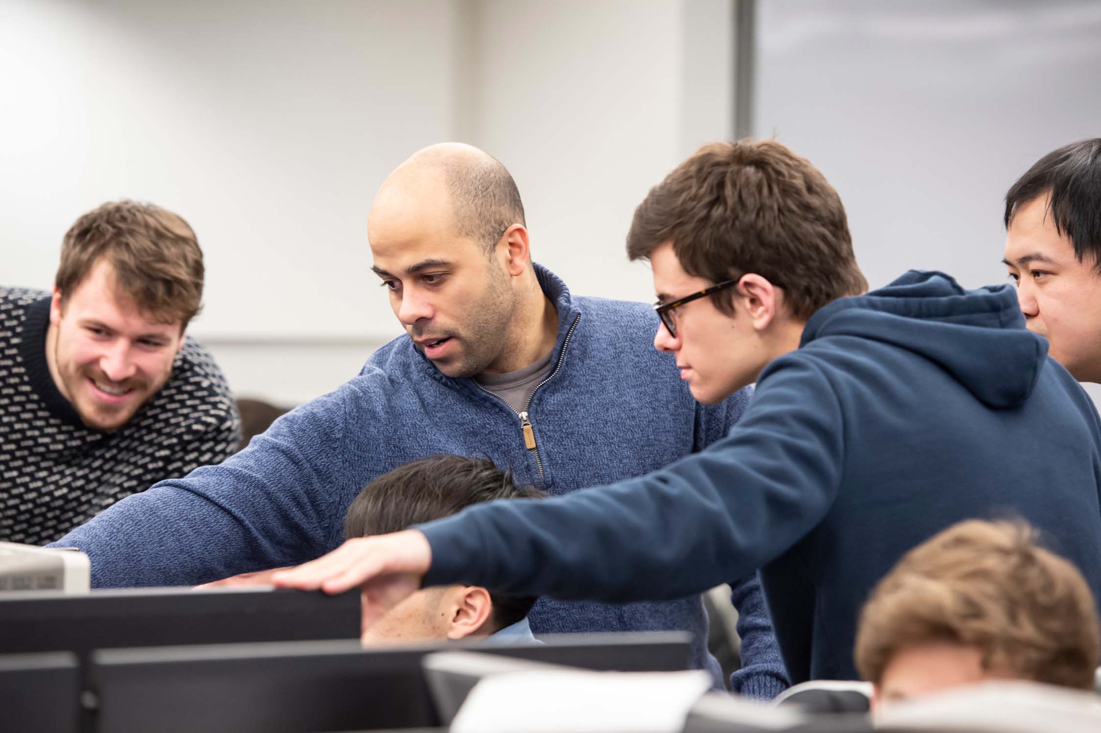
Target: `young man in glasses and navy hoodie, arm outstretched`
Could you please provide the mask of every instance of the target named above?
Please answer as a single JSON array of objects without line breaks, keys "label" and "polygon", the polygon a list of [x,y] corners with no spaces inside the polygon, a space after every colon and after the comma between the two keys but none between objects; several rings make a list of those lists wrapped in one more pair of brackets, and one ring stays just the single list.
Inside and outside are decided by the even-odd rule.
[{"label": "young man in glasses and navy hoodie, arm outstretched", "polygon": [[724,440],[646,476],[352,540],[275,582],[361,585],[379,613],[422,584],[631,601],[761,569],[792,682],[857,679],[869,592],[961,519],[1014,511],[1101,590],[1101,422],[1011,285],[909,271],[860,295],[840,200],[774,141],[685,161],[639,206],[628,254],[653,266],[654,345],[698,400],[756,381]]}]

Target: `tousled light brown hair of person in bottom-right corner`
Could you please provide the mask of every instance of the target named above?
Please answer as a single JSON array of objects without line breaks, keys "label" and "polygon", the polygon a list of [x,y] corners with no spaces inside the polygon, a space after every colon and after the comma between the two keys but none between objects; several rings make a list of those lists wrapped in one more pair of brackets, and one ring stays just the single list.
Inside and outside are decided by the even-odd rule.
[{"label": "tousled light brown hair of person in bottom-right corner", "polygon": [[857,668],[879,683],[892,657],[926,643],[978,648],[984,669],[1093,687],[1098,612],[1067,560],[1024,522],[962,521],[917,546],[875,586],[857,634]]}]

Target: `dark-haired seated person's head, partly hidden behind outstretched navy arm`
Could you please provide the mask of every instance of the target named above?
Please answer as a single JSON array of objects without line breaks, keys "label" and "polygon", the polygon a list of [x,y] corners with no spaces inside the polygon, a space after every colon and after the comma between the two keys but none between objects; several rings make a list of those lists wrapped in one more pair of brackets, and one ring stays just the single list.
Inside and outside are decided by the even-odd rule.
[{"label": "dark-haired seated person's head, partly hidden behind outstretched navy arm", "polygon": [[[542,498],[516,486],[511,471],[488,459],[433,455],[384,473],[367,485],[345,515],[345,539],[389,535],[443,519],[472,504]],[[537,599],[490,593],[479,585],[442,585],[416,591],[363,632],[363,640],[460,639],[535,643],[527,614]]]}]

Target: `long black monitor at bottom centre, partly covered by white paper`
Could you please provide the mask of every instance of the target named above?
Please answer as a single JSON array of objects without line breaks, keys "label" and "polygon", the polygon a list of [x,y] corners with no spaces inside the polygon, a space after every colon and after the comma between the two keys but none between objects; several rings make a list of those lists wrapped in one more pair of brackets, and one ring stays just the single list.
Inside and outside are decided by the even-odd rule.
[{"label": "long black monitor at bottom centre, partly covered by white paper", "polygon": [[686,669],[682,632],[568,635],[545,645],[447,644],[363,650],[358,642],[239,644],[96,651],[99,733],[269,733],[430,727],[440,720],[425,654],[489,654],[600,670]]}]

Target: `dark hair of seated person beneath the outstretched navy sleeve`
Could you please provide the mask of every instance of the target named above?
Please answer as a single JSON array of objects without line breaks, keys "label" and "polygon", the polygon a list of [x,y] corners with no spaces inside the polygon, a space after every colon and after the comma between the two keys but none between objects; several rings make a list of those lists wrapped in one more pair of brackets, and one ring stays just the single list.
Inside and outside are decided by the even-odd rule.
[{"label": "dark hair of seated person beneath the outstretched navy sleeve", "polygon": [[[488,459],[432,455],[400,465],[368,484],[345,515],[345,539],[399,532],[482,502],[545,496],[532,486],[516,486],[511,471],[498,468]],[[537,601],[497,593],[490,599],[494,630],[521,621]]]}]

